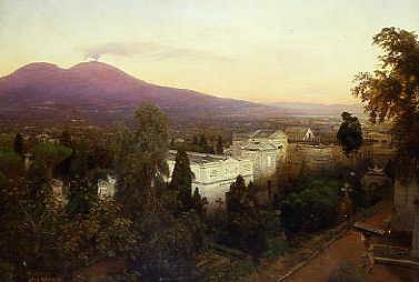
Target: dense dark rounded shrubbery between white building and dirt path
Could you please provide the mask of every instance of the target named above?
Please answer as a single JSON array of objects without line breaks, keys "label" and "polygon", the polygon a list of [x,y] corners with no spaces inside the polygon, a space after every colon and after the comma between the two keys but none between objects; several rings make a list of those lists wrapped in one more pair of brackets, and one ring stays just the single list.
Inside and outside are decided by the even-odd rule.
[{"label": "dense dark rounded shrubbery between white building and dirt path", "polygon": [[339,200],[337,181],[306,179],[297,190],[285,200],[282,223],[286,231],[317,231],[335,222]]}]

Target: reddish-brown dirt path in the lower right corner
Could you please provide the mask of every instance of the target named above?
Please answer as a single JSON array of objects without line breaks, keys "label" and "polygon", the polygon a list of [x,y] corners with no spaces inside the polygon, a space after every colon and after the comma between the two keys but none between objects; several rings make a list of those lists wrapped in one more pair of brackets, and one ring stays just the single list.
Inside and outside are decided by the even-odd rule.
[{"label": "reddish-brown dirt path in the lower right corner", "polygon": [[[391,214],[391,203],[383,202],[378,211],[365,221],[371,226],[382,226],[383,222]],[[287,278],[286,282],[323,282],[341,262],[349,261],[356,265],[362,264],[361,255],[365,253],[360,233],[353,230],[348,231],[342,238],[333,242],[308,264]],[[289,266],[289,265],[288,265]],[[288,268],[289,269],[289,268]],[[271,263],[250,278],[249,281],[278,281],[278,278],[286,274],[287,265],[283,260]],[[419,270],[410,270],[393,265],[376,264],[367,282],[416,282],[419,281]]]}]

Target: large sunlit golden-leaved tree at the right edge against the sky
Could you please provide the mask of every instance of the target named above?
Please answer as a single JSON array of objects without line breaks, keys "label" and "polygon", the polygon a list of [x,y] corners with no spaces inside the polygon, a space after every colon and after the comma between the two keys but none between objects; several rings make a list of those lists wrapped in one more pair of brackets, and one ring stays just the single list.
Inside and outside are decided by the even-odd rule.
[{"label": "large sunlit golden-leaved tree at the right edge against the sky", "polygon": [[[419,41],[417,34],[385,28],[373,37],[382,50],[381,66],[373,73],[359,73],[352,94],[361,98],[372,122],[391,121],[398,173],[417,174],[419,157]],[[405,169],[408,168],[408,169]]]}]

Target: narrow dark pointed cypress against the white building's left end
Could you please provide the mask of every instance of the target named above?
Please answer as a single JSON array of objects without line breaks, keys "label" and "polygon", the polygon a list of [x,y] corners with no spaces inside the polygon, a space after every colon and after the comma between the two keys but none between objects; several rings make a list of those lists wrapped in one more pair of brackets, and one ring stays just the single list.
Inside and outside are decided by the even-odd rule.
[{"label": "narrow dark pointed cypress against the white building's left end", "polygon": [[176,154],[170,188],[177,192],[181,211],[192,208],[192,179],[193,172],[190,169],[188,154],[183,149],[179,149]]}]

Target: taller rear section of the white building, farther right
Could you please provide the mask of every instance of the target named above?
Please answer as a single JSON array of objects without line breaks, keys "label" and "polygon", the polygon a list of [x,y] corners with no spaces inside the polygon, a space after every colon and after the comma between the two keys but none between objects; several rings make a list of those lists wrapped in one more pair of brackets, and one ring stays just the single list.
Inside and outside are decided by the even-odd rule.
[{"label": "taller rear section of the white building, farther right", "polygon": [[288,139],[283,131],[258,130],[246,138],[233,140],[226,154],[251,160],[255,179],[269,178],[279,162],[286,160]]}]

